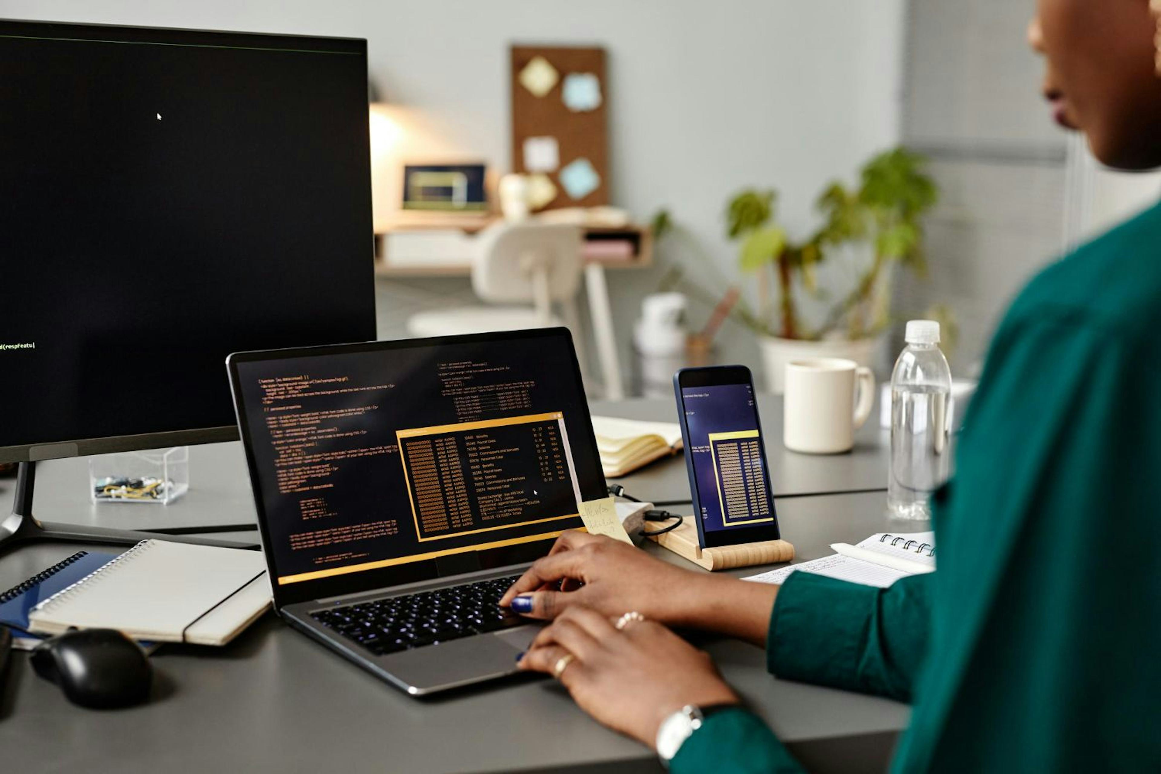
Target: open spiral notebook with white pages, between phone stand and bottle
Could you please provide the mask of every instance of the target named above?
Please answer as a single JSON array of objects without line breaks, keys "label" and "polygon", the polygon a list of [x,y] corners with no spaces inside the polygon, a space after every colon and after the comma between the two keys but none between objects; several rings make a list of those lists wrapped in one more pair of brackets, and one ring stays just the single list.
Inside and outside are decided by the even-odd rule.
[{"label": "open spiral notebook with white pages, between phone stand and bottle", "polygon": [[900,578],[936,569],[935,533],[879,533],[858,545],[836,544],[831,548],[839,552],[743,580],[781,584],[792,572],[801,571],[886,588]]}]

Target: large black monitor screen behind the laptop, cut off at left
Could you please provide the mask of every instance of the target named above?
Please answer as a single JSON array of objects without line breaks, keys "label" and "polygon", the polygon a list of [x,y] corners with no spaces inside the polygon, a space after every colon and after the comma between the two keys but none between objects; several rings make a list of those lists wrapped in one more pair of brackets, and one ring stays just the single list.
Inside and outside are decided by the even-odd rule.
[{"label": "large black monitor screen behind the laptop, cut off at left", "polygon": [[374,338],[365,41],[0,22],[0,461],[225,428],[229,353]]}]

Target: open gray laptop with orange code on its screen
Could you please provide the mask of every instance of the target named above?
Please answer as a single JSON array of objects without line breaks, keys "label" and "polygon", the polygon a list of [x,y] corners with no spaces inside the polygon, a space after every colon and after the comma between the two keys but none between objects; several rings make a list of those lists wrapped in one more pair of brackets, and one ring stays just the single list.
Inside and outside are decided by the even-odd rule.
[{"label": "open gray laptop with orange code on its screen", "polygon": [[279,615],[412,695],[515,673],[497,601],[607,494],[569,331],[226,366]]}]

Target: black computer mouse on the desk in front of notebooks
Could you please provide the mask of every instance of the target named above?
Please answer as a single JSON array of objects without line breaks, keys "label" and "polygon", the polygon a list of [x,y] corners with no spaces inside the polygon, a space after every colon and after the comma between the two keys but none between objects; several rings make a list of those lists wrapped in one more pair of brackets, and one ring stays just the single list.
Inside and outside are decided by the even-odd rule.
[{"label": "black computer mouse on the desk in front of notebooks", "polygon": [[81,707],[139,704],[153,683],[145,652],[113,629],[57,635],[37,645],[30,660],[38,675],[60,686],[68,701]]}]

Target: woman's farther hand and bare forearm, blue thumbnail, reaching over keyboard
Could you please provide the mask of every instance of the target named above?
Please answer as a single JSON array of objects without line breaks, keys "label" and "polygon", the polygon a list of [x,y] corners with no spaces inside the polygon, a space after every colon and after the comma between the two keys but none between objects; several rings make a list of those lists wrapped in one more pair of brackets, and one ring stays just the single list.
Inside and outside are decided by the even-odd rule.
[{"label": "woman's farther hand and bare forearm, blue thumbnail, reaching over keyboard", "polygon": [[[565,591],[549,588],[557,583]],[[576,606],[606,617],[637,610],[666,625],[720,631],[764,646],[777,594],[778,586],[683,570],[611,537],[569,530],[500,605],[534,619],[555,619]]]}]

